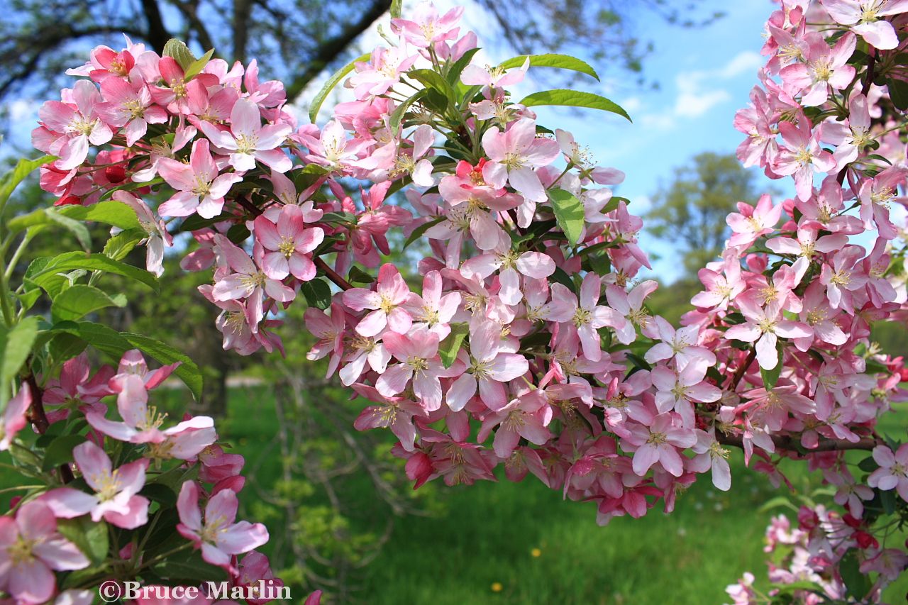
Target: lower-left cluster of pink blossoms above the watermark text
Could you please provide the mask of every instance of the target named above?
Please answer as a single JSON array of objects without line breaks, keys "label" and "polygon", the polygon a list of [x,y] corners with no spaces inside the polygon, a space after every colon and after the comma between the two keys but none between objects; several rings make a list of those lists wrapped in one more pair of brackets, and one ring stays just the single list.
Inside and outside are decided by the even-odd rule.
[{"label": "lower-left cluster of pink blossoms above the watermark text", "polygon": [[[267,558],[254,550],[268,541],[268,531],[261,523],[235,521],[237,492],[245,482],[243,457],[223,451],[211,418],[187,415],[169,422],[149,404],[149,392],[178,365],[149,370],[133,350],[117,368],[104,366],[92,374],[81,353],[57,376],[35,378],[43,384],[37,387],[41,402],[35,402],[35,387],[24,382],[8,403],[0,450],[9,450],[23,469],[32,465],[35,454],[15,438],[25,428],[26,414],[40,408],[44,418],[35,419],[34,413],[27,418],[42,439],[51,440],[47,451],[55,439],[71,447],[72,462],[57,468],[48,486],[29,486],[35,489],[15,497],[10,512],[0,517],[0,590],[12,599],[4,602],[88,605],[97,590],[85,587],[105,579],[167,578],[159,565],[168,549],[169,556],[201,550],[211,570],[223,570],[209,580],[236,587],[260,580],[281,585]],[[105,398],[115,398],[113,418]],[[77,432],[80,424],[88,429],[84,436]],[[79,442],[72,446],[73,441]],[[96,542],[88,552],[86,540]],[[76,573],[58,582],[54,571]]]}]

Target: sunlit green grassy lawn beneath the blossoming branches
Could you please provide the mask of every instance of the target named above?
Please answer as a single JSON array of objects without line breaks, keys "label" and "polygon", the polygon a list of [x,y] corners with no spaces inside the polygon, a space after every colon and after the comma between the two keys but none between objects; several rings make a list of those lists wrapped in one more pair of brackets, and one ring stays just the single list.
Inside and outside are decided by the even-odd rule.
[{"label": "sunlit green grassy lawn beneath the blossoming branches", "polygon": [[[892,414],[883,431],[903,438],[906,415]],[[269,447],[273,422],[267,403],[237,396],[222,431],[249,465],[259,465],[262,482],[277,473],[277,454]],[[856,461],[865,455],[854,452]],[[659,508],[607,527],[597,526],[595,504],[562,501],[531,476],[520,484],[439,484],[444,511],[397,522],[379,557],[363,570],[360,596],[375,605],[723,603],[725,586],[745,570],[765,581],[763,533],[770,518],[779,512],[795,517],[785,507],[761,510],[787,491],[746,471],[740,451],[733,459],[730,492],[716,491],[704,478],[678,497],[674,513]],[[799,491],[819,486],[803,464],[788,469]],[[365,490],[360,497],[368,501]],[[254,501],[252,491],[244,495]],[[901,602],[906,591],[903,577],[888,594]]]}]

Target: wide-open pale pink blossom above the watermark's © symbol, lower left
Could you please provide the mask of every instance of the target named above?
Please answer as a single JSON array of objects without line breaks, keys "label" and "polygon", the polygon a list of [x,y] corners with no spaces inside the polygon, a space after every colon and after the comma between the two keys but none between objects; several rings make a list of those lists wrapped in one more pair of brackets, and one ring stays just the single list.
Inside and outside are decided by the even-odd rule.
[{"label": "wide-open pale pink blossom above the watermark's \u00a9 symbol, lower left", "polygon": [[125,530],[133,530],[148,521],[149,501],[138,495],[145,484],[147,460],[129,462],[114,470],[104,450],[91,441],[75,446],[73,457],[94,494],[67,487],[48,491],[41,501],[54,515],[72,519],[91,513],[92,521],[104,519]]}]

